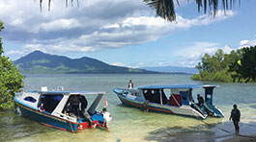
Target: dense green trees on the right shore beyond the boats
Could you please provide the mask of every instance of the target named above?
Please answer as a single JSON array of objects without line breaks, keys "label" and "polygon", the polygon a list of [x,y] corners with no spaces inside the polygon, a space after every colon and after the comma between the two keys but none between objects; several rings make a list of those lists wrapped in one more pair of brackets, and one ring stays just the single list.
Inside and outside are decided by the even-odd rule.
[{"label": "dense green trees on the right shore beyond the boats", "polygon": [[230,54],[218,50],[213,56],[205,54],[196,65],[199,74],[191,79],[198,81],[238,82],[256,81],[256,46],[244,47]]}]

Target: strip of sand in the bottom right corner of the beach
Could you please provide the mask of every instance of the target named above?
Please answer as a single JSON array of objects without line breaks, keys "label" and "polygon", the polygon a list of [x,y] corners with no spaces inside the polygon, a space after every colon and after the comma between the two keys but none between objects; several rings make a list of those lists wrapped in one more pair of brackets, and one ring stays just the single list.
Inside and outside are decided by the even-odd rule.
[{"label": "strip of sand in the bottom right corner of the beach", "polygon": [[234,135],[231,138],[221,142],[256,142],[256,134],[254,135]]}]

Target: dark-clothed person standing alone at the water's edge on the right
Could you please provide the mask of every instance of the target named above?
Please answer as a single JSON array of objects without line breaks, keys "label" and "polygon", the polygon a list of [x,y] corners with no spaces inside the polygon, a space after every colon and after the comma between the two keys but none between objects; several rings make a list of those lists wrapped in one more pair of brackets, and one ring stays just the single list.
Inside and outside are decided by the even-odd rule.
[{"label": "dark-clothed person standing alone at the water's edge on the right", "polygon": [[241,117],[240,110],[238,109],[237,105],[234,105],[233,109],[231,111],[231,115],[229,117],[229,120],[232,119],[232,121],[234,123],[234,126],[235,126],[236,134],[238,134],[240,132],[240,126],[239,126],[240,117]]}]

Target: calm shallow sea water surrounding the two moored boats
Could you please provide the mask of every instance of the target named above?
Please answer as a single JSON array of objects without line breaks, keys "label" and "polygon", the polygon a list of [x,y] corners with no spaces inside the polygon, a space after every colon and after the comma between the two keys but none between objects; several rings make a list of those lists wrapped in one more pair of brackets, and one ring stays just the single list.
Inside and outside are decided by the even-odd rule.
[{"label": "calm shallow sea water surrounding the two moored boats", "polygon": [[[107,109],[113,116],[110,132],[83,130],[71,133],[45,127],[22,117],[13,111],[0,112],[0,141],[87,141],[87,142],[139,142],[139,141],[220,141],[234,133],[233,123],[228,120],[233,104],[242,112],[241,133],[256,133],[256,84],[211,83],[214,89],[213,104],[225,114],[224,118],[208,118],[205,122],[195,118],[149,112],[124,106],[112,91],[115,87],[150,84],[206,84],[195,82],[188,75],[27,75],[25,90],[39,90],[47,85],[64,86],[65,90],[105,91]],[[209,84],[209,83],[207,83]],[[196,94],[203,89],[195,89]],[[89,101],[91,99],[89,98]],[[98,107],[101,109],[104,102]]]}]

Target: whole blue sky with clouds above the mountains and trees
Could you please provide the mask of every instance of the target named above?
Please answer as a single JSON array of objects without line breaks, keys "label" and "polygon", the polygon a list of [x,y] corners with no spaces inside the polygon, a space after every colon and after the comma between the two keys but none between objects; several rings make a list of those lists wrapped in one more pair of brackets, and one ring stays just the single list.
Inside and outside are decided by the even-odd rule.
[{"label": "whole blue sky with clouds above the mountains and trees", "polygon": [[[137,0],[79,1],[65,8],[54,0],[47,12],[39,1],[0,0],[5,23],[5,55],[19,59],[35,50],[90,57],[114,65],[195,66],[206,53],[225,53],[256,45],[256,2],[242,1],[216,16],[197,12],[194,1],[176,8],[177,21],[156,17],[154,9]],[[71,5],[71,4],[70,4]]]}]

